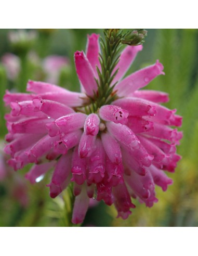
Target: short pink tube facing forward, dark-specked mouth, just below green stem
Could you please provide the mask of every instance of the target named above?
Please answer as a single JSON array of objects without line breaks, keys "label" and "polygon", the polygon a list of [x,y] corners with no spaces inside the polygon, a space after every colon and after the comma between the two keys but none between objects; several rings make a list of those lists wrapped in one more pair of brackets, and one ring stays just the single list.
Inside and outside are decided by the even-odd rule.
[{"label": "short pink tube facing forward, dark-specked mouth, just below green stem", "polygon": [[99,110],[99,115],[104,121],[127,124],[128,111],[113,105],[104,105]]}]

